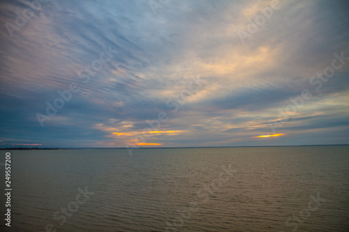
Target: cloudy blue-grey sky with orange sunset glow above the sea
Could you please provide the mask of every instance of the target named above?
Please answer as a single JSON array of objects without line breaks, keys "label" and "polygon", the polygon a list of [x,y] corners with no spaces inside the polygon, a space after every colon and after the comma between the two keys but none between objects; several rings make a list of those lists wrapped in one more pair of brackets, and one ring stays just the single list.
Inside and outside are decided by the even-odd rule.
[{"label": "cloudy blue-grey sky with orange sunset glow above the sea", "polygon": [[349,144],[348,1],[0,1],[0,148]]}]

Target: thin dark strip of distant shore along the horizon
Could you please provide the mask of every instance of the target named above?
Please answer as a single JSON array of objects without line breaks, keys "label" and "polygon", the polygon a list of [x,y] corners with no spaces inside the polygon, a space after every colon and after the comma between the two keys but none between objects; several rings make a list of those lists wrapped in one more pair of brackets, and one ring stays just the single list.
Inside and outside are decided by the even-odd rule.
[{"label": "thin dark strip of distant shore along the horizon", "polygon": [[[139,147],[134,149],[187,149],[187,148],[267,148],[287,146],[349,146],[349,144],[327,145],[276,145],[276,146],[193,146],[193,147]],[[0,148],[0,150],[87,150],[87,149],[128,149],[128,148]]]}]

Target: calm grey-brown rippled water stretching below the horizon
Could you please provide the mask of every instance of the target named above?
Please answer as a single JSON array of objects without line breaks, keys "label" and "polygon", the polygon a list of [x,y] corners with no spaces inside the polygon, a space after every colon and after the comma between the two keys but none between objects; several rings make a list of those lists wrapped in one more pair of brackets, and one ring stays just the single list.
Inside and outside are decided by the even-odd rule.
[{"label": "calm grey-brown rippled water stretching below the horizon", "polygon": [[349,231],[349,146],[10,152],[1,231]]}]

